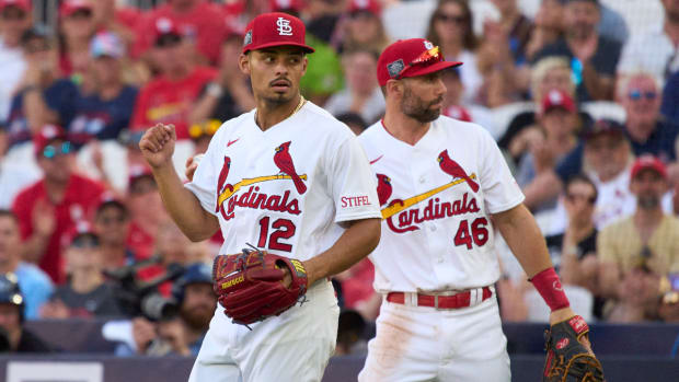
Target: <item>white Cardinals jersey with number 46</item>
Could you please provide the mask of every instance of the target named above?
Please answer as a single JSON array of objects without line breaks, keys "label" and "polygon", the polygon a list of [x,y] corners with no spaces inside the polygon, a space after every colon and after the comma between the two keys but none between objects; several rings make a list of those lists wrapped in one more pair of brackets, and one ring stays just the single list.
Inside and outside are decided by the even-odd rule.
[{"label": "white Cardinals jersey with number 46", "polygon": [[[388,127],[387,127],[388,128]],[[410,146],[382,121],[359,137],[378,180],[380,244],[375,289],[444,291],[494,283],[499,266],[491,213],[523,201],[491,135],[445,116]]]}]

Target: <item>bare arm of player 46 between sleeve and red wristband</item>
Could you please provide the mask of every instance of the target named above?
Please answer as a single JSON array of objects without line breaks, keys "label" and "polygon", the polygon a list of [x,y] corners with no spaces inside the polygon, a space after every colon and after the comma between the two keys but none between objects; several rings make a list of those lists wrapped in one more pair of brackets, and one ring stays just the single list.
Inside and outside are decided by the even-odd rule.
[{"label": "bare arm of player 46 between sleeve and red wristband", "polygon": [[529,278],[552,266],[544,238],[526,206],[493,215],[493,223]]}]

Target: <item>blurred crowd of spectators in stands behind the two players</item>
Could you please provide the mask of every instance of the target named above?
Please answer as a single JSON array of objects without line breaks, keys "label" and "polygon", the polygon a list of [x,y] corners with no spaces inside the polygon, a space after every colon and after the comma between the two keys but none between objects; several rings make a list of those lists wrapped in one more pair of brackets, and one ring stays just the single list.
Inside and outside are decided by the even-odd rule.
[{"label": "blurred crowd of spectators in stands behind the two players", "polygon": [[[175,166],[254,107],[245,24],[288,12],[315,48],[303,95],[357,135],[377,59],[426,37],[444,114],[497,140],[588,322],[679,322],[679,0],[0,0],[0,348],[58,350],[30,320],[110,319],[116,354],[195,355],[222,238],[169,219],[138,142],[174,124]],[[499,243],[505,321],[546,306]],[[398,261],[398,259],[395,259]],[[338,354],[381,302],[366,259],[334,283]]]}]

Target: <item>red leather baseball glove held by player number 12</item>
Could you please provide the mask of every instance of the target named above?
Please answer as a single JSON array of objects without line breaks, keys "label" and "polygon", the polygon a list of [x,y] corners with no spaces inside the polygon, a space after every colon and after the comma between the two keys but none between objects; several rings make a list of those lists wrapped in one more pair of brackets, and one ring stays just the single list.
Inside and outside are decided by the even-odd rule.
[{"label": "red leather baseball glove held by player number 12", "polygon": [[[287,267],[292,280],[283,285]],[[215,293],[225,314],[237,324],[249,325],[279,315],[303,300],[307,270],[302,263],[260,250],[219,255],[212,265]]]}]

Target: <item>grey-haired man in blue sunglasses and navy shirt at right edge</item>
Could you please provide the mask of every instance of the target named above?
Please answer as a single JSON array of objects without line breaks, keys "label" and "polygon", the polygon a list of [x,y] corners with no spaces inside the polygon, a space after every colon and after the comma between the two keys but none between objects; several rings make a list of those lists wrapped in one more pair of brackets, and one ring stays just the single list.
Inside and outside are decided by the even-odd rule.
[{"label": "grey-haired man in blue sunglasses and navy shirt at right edge", "polygon": [[660,95],[658,80],[648,72],[631,73],[620,81],[618,99],[634,154],[653,154],[668,163],[677,159],[679,125],[660,114]]}]

